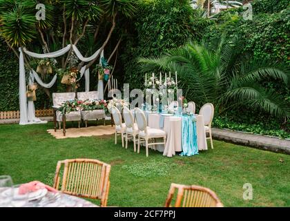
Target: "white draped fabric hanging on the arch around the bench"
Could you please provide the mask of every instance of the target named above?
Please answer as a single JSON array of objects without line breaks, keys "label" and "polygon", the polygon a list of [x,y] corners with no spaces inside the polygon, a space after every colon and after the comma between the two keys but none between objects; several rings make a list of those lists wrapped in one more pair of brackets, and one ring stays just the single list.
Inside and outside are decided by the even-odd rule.
[{"label": "white draped fabric hanging on the arch around the bench", "polygon": [[[75,51],[75,54],[77,57],[84,62],[91,61],[95,59],[97,56],[99,56],[100,50],[97,50],[92,56],[90,57],[83,57],[81,55],[81,52],[77,49],[76,46],[74,45],[68,45],[66,48],[62,48],[61,50],[57,50],[55,52],[49,52],[46,54],[37,54],[35,52],[30,52],[26,50],[26,48],[23,48],[23,51],[21,48],[19,48],[19,110],[20,110],[20,122],[19,124],[25,125],[25,124],[35,124],[35,123],[46,123],[42,122],[40,119],[35,117],[35,105],[34,102],[29,101],[27,102],[27,97],[26,97],[26,77],[25,77],[25,68],[24,68],[24,57],[23,57],[23,52],[26,53],[26,55],[29,55],[30,57],[35,57],[38,59],[44,59],[44,58],[54,58],[54,57],[59,57],[61,55],[66,54],[70,49],[73,49]],[[104,50],[101,51],[101,56],[100,56],[100,62],[101,62],[101,57],[104,57]],[[83,66],[80,70],[81,77],[85,75],[86,78],[86,92],[90,90],[90,69],[86,69],[86,66]],[[55,75],[50,81],[50,83],[46,84],[43,83],[39,75],[35,72],[35,70],[30,70],[30,81],[29,84],[33,84],[34,79],[37,81],[37,83],[44,88],[51,88],[53,84],[55,84],[55,81],[57,80],[57,75]],[[104,82],[103,80],[99,80],[98,83],[98,91],[99,91],[99,98],[104,99]]]}]

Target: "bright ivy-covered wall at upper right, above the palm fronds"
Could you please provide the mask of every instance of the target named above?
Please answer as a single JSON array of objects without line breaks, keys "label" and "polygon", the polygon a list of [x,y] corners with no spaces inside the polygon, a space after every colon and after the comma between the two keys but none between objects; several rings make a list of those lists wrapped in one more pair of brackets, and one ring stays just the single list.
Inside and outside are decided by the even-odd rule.
[{"label": "bright ivy-covered wall at upper right, above the palm fronds", "polygon": [[215,17],[215,24],[206,28],[204,39],[219,39],[222,33],[229,36],[238,35],[244,41],[241,52],[247,52],[255,59],[290,62],[289,8],[272,15],[253,12],[252,21],[244,20],[242,15],[238,16],[236,12],[241,12],[241,8],[220,12]]}]

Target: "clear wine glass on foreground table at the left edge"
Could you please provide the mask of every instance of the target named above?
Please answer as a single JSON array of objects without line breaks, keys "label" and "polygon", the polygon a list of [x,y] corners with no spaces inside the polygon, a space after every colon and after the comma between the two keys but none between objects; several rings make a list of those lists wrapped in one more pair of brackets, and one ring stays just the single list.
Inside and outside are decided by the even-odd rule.
[{"label": "clear wine glass on foreground table at the left edge", "polygon": [[10,206],[13,195],[13,182],[10,175],[0,175],[0,207]]}]

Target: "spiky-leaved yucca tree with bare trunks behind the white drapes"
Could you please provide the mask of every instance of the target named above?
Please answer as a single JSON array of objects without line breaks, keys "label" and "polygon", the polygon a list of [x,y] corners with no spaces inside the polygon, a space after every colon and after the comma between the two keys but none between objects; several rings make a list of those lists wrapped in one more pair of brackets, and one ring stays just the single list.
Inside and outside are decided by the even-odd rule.
[{"label": "spiky-leaved yucca tree with bare trunks behind the white drapes", "polygon": [[[38,21],[35,17],[38,3],[43,3],[46,7],[45,20]],[[88,57],[88,53],[94,47],[100,48],[101,52],[108,43],[114,46],[115,41],[110,41],[113,32],[122,33],[122,26],[116,28],[119,17],[131,17],[135,12],[133,0],[0,0],[0,37],[17,57],[19,47],[30,46],[31,50],[31,47],[40,45],[41,52],[47,53],[64,48],[68,44],[89,42],[90,46],[83,44],[87,47],[79,47],[86,51],[85,57]],[[122,35],[118,36],[119,41],[113,52],[111,51],[110,57],[117,57],[115,52]],[[95,50],[96,48],[93,52]],[[87,69],[98,61],[100,54],[86,65]],[[75,66],[71,62],[73,55],[73,50],[70,50],[66,57],[57,58],[57,68],[66,70]],[[30,70],[30,58],[25,54],[23,56],[26,68]],[[84,62],[77,60],[76,66],[80,70]],[[50,97],[49,90],[43,90],[46,90]]]}]

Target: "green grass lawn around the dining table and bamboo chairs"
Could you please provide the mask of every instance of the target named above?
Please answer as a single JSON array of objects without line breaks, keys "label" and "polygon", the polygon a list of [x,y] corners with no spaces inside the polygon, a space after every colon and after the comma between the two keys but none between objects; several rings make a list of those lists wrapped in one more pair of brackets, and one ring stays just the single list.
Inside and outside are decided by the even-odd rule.
[{"label": "green grass lawn around the dining table and bamboo chairs", "polygon": [[[58,160],[87,157],[112,165],[108,206],[163,206],[171,182],[209,187],[225,206],[290,206],[290,155],[214,141],[193,157],[146,158],[144,148],[126,150],[113,136],[56,140],[48,128],[0,125],[0,175],[51,185]],[[243,200],[244,183],[253,185],[253,200]]]}]

